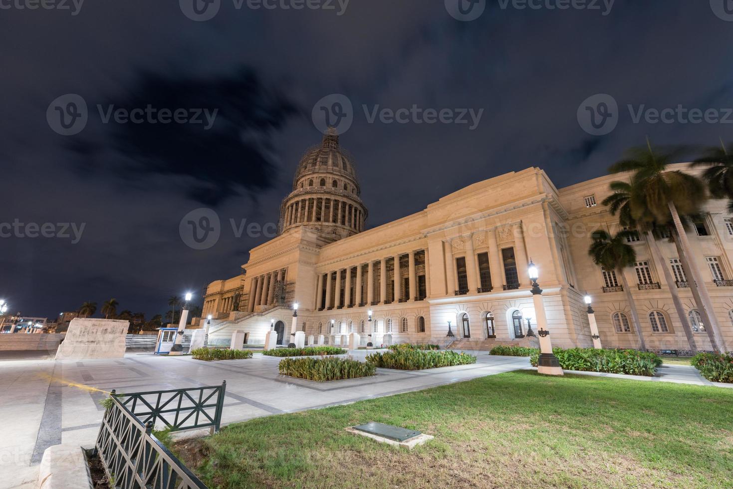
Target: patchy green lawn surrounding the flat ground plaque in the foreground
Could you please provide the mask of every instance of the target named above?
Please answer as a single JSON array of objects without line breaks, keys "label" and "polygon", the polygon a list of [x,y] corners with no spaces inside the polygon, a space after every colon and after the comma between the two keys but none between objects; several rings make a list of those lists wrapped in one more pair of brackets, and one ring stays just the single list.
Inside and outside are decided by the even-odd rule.
[{"label": "patchy green lawn surrounding the flat ground plaque in the foreground", "polygon": [[[408,452],[344,428],[435,435]],[[733,391],[518,371],[176,446],[210,488],[733,488]]]}]

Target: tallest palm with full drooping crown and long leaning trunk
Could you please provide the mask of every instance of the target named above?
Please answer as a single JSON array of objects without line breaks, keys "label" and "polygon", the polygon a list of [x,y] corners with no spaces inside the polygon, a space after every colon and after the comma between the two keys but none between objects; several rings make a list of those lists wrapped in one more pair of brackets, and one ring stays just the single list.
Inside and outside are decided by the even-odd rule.
[{"label": "tallest palm with full drooping crown and long leaning trunk", "polygon": [[[676,158],[687,152],[686,148],[678,147],[666,152],[655,153],[647,140],[647,147],[632,148],[627,152],[627,158],[614,163],[608,169],[611,173],[633,172],[631,180],[636,191],[630,198],[630,210],[633,218],[643,218],[646,213],[651,214],[658,224],[673,224],[679,237],[682,253],[690,265],[692,281],[698,287],[701,303],[698,307],[707,313],[712,328],[712,334],[718,339],[713,349],[719,351],[718,345],[724,348],[721,341],[718,320],[712,309],[712,301],[707,285],[701,279],[699,269],[692,260],[693,254],[685,228],[682,226],[680,213],[685,215],[696,214],[707,196],[703,183],[696,177],[679,170],[667,170],[667,166]],[[690,278],[690,277],[688,277]]]}]

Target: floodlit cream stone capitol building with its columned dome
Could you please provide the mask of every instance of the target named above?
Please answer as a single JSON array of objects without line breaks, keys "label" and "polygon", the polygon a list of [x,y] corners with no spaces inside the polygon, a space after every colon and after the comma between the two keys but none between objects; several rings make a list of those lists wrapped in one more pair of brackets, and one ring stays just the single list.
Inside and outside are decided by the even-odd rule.
[{"label": "floodlit cream stone capitol building with its columned dome", "polygon": [[[674,167],[699,172],[686,164]],[[297,302],[297,329],[309,343],[323,335],[331,345],[358,338],[349,348],[367,342],[480,350],[529,345],[528,327],[537,330],[531,261],[539,268],[554,346],[592,347],[587,293],[603,347],[638,348],[621,277],[594,265],[588,254],[592,232],[619,229],[600,202],[611,194],[609,183],[627,175],[560,189],[534,167],[487,177],[418,213],[368,229],[356,162],[339,136],[326,134],[298,164],[292,192],[281,205],[279,235],[251,249],[242,273],[207,287],[203,317],[212,316],[209,344],[227,345],[240,332],[245,344],[262,345],[273,330],[278,343],[287,345]],[[729,349],[732,218],[726,202],[710,200],[688,231]],[[625,276],[647,348],[689,348],[669,292],[677,287],[698,348],[709,350],[676,246],[658,240],[664,257],[658,262],[645,239],[630,241],[638,262]],[[674,272],[674,283],[667,283],[663,267]]]}]

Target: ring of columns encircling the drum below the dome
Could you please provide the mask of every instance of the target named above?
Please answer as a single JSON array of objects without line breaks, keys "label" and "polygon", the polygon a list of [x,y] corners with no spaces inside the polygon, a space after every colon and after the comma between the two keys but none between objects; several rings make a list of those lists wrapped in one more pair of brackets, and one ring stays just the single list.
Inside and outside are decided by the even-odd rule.
[{"label": "ring of columns encircling the drum below the dome", "polygon": [[[326,202],[330,204],[328,213],[325,212]],[[290,226],[304,222],[323,222],[341,224],[356,231],[362,231],[363,220],[364,214],[357,205],[337,199],[312,197],[299,199],[290,204],[285,210],[284,224]]]}]

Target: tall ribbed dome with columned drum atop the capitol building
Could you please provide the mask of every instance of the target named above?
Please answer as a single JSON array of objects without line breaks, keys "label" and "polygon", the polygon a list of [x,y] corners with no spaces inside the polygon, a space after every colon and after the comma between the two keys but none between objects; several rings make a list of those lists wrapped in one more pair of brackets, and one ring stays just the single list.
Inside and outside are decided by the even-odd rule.
[{"label": "tall ribbed dome with columned drum atop the capitol building", "polygon": [[298,163],[292,192],[280,210],[280,230],[308,226],[335,239],[355,235],[367,220],[360,195],[354,159],[331,128]]}]

